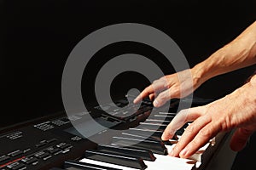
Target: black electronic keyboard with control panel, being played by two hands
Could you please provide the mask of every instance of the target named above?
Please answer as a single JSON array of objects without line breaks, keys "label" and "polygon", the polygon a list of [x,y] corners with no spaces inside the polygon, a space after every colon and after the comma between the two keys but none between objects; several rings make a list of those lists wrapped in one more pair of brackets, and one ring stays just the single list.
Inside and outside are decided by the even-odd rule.
[{"label": "black electronic keyboard with control panel, being played by two hands", "polygon": [[[57,114],[0,131],[0,169],[3,170],[78,170],[78,169],[206,169],[222,145],[219,134],[189,159],[167,156],[188,124],[173,139],[162,141],[161,134],[177,113],[179,100],[173,100],[168,112],[155,109],[148,99],[140,105],[129,99],[93,106],[73,116]],[[191,102],[184,99],[183,102]],[[193,99],[193,105],[209,100]],[[102,124],[95,128],[87,117]],[[71,122],[79,122],[84,133],[99,139],[97,144],[84,138]],[[115,129],[110,133],[109,129]]]}]

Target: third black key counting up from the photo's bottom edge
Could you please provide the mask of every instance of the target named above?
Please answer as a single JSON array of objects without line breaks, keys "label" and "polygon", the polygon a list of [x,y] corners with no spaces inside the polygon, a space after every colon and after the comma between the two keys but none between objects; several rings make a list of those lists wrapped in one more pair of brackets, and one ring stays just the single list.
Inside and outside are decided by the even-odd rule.
[{"label": "third black key counting up from the photo's bottom edge", "polygon": [[119,156],[138,156],[143,158],[143,160],[154,161],[154,157],[151,150],[136,150],[132,148],[120,148],[118,146],[102,145],[97,146],[97,150],[102,150],[109,154],[119,155]]}]

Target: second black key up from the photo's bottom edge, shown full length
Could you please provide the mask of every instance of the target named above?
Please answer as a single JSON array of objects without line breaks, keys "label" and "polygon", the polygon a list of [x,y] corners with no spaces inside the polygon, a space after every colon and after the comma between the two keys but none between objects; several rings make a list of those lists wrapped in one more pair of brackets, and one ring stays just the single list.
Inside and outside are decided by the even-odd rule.
[{"label": "second black key up from the photo's bottom edge, shown full length", "polygon": [[117,156],[98,150],[86,150],[85,157],[88,159],[105,161],[125,167],[134,167],[139,169],[145,169],[147,167],[142,158],[131,156]]}]

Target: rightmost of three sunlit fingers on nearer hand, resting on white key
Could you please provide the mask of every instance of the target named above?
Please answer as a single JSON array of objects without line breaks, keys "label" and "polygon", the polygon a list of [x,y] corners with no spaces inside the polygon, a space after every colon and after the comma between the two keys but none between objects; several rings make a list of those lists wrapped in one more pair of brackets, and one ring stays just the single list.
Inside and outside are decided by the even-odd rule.
[{"label": "rightmost of three sunlit fingers on nearer hand, resting on white key", "polygon": [[183,150],[181,150],[179,156],[182,158],[192,156],[197,150],[207,144],[219,131],[220,127],[218,124],[214,122],[208,123],[195,135],[195,138]]}]

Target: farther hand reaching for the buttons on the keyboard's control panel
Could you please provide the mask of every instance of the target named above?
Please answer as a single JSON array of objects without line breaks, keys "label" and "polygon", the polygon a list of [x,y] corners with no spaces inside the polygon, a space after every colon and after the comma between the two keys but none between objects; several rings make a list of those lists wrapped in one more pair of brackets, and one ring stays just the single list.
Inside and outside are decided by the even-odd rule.
[{"label": "farther hand reaching for the buttons on the keyboard's control panel", "polygon": [[161,77],[148,86],[148,88],[145,88],[134,99],[134,103],[138,103],[143,98],[149,97],[151,100],[154,99],[153,104],[155,107],[160,107],[169,99],[186,97],[201,85],[203,79],[200,79],[199,75],[200,69],[193,68]]}]

